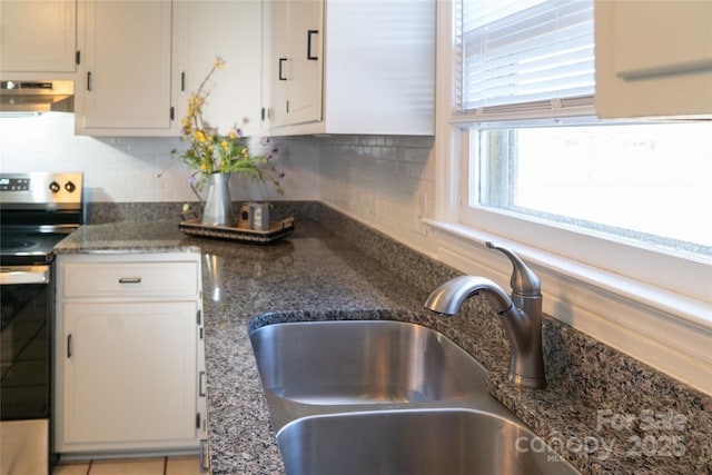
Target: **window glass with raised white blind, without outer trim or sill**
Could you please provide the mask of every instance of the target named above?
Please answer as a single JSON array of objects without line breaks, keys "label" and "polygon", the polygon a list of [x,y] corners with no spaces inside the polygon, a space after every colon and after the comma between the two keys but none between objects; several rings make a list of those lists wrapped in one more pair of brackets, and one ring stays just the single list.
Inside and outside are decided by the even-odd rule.
[{"label": "window glass with raised white blind, without outer trim or sill", "polygon": [[[591,246],[558,243],[578,234],[712,261],[712,123],[595,118],[593,0],[465,0],[454,18],[463,224],[517,241],[547,227],[527,244],[575,259]],[[616,260],[590,264],[629,275]]]}]

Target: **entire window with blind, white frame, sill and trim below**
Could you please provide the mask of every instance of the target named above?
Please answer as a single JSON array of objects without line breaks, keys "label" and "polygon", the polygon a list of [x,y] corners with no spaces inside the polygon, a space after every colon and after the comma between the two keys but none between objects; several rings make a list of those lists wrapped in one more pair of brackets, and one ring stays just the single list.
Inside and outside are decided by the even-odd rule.
[{"label": "entire window with blind, white frame, sill and trim below", "polygon": [[595,117],[593,2],[437,2],[434,253],[710,393],[712,122]]}]

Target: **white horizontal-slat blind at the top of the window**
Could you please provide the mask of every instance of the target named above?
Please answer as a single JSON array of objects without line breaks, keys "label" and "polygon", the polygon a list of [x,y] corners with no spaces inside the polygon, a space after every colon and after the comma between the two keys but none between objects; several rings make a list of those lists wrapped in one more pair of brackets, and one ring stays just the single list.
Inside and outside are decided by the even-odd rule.
[{"label": "white horizontal-slat blind at the top of the window", "polygon": [[593,112],[593,0],[462,2],[455,67],[461,120]]}]

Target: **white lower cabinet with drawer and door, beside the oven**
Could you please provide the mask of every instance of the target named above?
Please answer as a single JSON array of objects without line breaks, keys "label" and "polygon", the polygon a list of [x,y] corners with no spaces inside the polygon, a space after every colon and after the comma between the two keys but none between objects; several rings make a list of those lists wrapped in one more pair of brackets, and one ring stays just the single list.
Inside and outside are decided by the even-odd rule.
[{"label": "white lower cabinet with drawer and door, beside the oven", "polygon": [[[198,254],[58,257],[56,452],[198,451],[206,437],[199,264]],[[182,294],[166,285],[174,281]]]}]

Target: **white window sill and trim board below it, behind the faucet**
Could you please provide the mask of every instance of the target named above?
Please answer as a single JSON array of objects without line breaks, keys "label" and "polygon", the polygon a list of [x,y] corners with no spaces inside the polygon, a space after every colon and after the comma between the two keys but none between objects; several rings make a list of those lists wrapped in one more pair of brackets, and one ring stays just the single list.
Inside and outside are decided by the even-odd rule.
[{"label": "white window sill and trim board below it, behind the faucet", "polygon": [[678,379],[712,394],[712,310],[705,301],[660,289],[467,226],[423,219],[437,258],[508,289],[511,265],[484,241],[510,245],[542,280],[544,311]]}]

